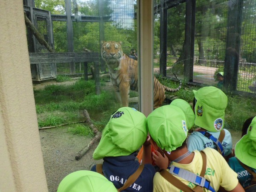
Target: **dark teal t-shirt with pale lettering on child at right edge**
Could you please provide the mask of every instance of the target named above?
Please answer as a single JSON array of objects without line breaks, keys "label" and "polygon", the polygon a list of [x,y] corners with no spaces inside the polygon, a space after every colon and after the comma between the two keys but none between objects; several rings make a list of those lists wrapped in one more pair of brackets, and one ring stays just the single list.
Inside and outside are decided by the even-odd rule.
[{"label": "dark teal t-shirt with pale lettering on child at right edge", "polygon": [[[241,164],[236,159],[236,157],[231,157],[227,163],[231,167],[231,169],[233,169],[234,172],[237,173],[237,178],[238,178],[241,186],[243,186],[245,188],[251,184],[253,175],[251,175],[246,169],[243,168],[243,166],[241,166]],[[251,168],[251,169],[254,172],[256,172],[256,169],[253,169],[253,168]]]}]

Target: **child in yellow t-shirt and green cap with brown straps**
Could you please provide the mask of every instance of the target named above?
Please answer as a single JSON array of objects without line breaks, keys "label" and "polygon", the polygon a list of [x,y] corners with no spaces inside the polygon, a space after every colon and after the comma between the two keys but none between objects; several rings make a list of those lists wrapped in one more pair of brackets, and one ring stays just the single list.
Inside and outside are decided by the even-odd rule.
[{"label": "child in yellow t-shirt and green cap with brown straps", "polygon": [[[244,192],[237,174],[218,151],[205,148],[203,152],[191,152],[187,149],[186,116],[180,108],[165,105],[151,112],[147,119],[152,143],[171,161],[167,170],[155,174],[154,192],[191,191],[191,188],[217,192],[220,186],[227,191]],[[204,178],[207,179],[205,183],[201,182]]]}]

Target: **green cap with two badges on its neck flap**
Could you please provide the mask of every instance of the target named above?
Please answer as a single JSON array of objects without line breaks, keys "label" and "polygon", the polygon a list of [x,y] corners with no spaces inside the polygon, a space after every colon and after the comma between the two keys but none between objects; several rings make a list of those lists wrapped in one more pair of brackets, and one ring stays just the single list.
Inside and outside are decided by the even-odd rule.
[{"label": "green cap with two badges on its neck flap", "polygon": [[217,87],[202,87],[195,94],[195,125],[208,131],[218,132],[224,128],[227,96]]}]

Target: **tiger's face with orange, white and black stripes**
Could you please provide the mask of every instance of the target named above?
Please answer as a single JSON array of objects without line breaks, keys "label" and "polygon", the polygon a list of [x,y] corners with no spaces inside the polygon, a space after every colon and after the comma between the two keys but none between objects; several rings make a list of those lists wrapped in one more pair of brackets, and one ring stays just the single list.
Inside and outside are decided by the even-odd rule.
[{"label": "tiger's face with orange, white and black stripes", "polygon": [[120,61],[122,58],[122,42],[116,41],[102,41],[101,54],[102,58],[108,62]]}]

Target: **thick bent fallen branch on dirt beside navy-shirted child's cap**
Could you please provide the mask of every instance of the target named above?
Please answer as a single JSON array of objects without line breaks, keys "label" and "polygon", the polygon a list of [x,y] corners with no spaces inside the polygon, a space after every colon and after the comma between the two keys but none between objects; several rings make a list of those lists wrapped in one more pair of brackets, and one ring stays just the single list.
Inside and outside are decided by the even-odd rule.
[{"label": "thick bent fallen branch on dirt beside navy-shirted child's cap", "polygon": [[85,147],[83,148],[81,151],[79,151],[75,157],[76,160],[79,160],[81,159],[81,157],[84,156],[84,154],[86,154],[86,152],[90,149],[90,147],[97,141],[100,140],[102,134],[101,132],[96,128],[95,125],[93,125],[93,122],[92,120],[90,119],[90,115],[89,113],[87,112],[87,110],[84,110],[84,117],[86,119],[86,122],[87,124],[89,125],[90,129],[93,131],[94,133],[94,137],[93,139],[90,141],[90,143]]}]

